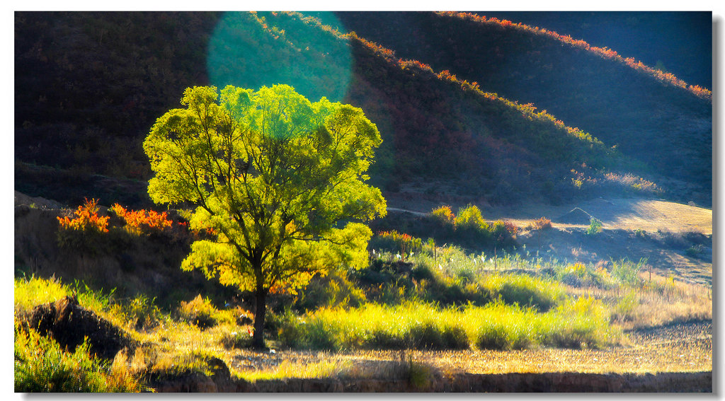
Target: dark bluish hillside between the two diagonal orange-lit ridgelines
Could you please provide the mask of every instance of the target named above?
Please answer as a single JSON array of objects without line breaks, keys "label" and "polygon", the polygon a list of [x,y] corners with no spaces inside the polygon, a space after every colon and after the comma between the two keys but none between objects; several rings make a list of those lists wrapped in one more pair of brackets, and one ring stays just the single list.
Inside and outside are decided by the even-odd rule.
[{"label": "dark bluish hillside between the two diagonal orange-lit ridgelines", "polygon": [[[567,124],[711,195],[712,105],[622,62],[514,24],[428,12],[338,12],[396,55],[533,102]],[[701,201],[702,201],[701,200]]]}]

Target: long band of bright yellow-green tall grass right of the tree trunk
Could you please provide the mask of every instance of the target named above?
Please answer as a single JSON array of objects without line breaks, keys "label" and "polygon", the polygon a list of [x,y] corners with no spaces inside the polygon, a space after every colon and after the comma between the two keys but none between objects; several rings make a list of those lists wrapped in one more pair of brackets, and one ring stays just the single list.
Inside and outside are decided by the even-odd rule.
[{"label": "long band of bright yellow-green tall grass right of the tree trunk", "polygon": [[591,298],[571,300],[546,313],[502,301],[463,310],[408,302],[289,315],[281,324],[279,339],[286,347],[315,350],[510,350],[539,345],[602,347],[616,339],[616,331],[604,305]]}]

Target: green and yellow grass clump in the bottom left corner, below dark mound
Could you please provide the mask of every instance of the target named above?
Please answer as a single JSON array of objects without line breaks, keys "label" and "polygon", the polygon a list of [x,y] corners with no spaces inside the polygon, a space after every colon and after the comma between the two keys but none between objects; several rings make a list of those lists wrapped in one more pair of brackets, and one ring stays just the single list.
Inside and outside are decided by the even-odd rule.
[{"label": "green and yellow grass clump in the bottom left corner, below dark mound", "polygon": [[112,368],[83,342],[67,353],[50,337],[15,325],[15,392],[140,392],[138,376]]}]

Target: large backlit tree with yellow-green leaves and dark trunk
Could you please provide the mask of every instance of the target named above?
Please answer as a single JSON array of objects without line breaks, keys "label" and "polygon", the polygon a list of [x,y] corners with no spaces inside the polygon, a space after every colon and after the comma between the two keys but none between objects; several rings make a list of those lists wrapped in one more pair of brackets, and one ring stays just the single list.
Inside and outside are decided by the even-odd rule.
[{"label": "large backlit tree with yellow-green leaves and dark trunk", "polygon": [[189,226],[212,239],[195,241],[181,268],[254,292],[253,342],[264,347],[270,291],[368,263],[363,222],[386,214],[365,184],[380,133],[361,109],[310,103],[288,85],[188,88],[181,104],[144,141],[149,195],[196,207]]}]

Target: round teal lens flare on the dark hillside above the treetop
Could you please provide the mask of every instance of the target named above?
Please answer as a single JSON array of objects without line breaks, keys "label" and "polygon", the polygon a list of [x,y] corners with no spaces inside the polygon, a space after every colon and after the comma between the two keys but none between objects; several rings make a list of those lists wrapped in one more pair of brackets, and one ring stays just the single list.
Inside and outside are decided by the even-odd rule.
[{"label": "round teal lens flare on the dark hillside above the treetop", "polygon": [[[341,26],[331,12],[320,19]],[[342,101],[351,72],[347,38],[296,13],[227,12],[207,52],[211,85],[256,90],[286,84],[310,101]]]}]

